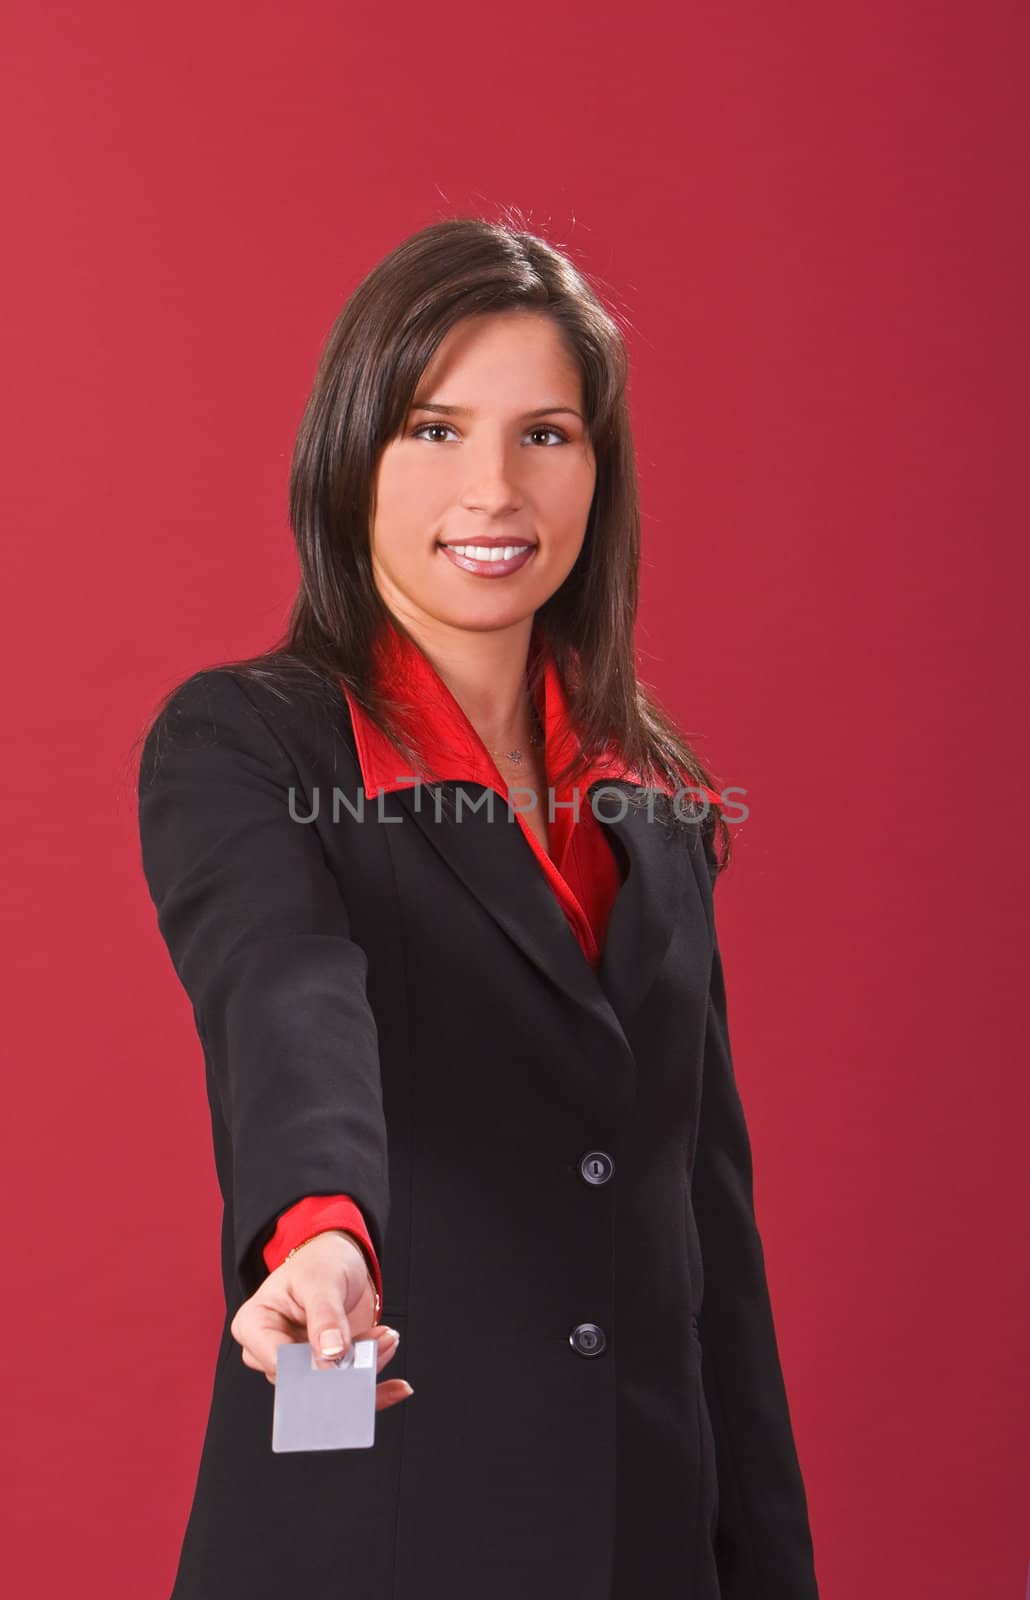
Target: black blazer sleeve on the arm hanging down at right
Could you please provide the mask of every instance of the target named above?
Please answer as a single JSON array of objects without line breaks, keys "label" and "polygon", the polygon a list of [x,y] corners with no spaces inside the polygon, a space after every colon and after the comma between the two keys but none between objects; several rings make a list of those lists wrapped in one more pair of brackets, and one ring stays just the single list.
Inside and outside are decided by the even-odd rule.
[{"label": "black blazer sleeve on the arm hanging down at right", "polygon": [[[715,885],[715,854],[705,837]],[[713,923],[715,931],[715,923]],[[817,1600],[798,1464],[755,1219],[752,1149],[737,1091],[723,960],[707,1002],[693,1176],[704,1299],[702,1379],[718,1466],[715,1557],[723,1600]]]}]

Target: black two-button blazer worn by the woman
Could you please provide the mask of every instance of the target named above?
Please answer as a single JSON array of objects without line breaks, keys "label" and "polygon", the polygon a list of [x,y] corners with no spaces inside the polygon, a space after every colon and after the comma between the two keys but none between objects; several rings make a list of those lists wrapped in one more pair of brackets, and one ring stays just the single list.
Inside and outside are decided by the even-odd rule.
[{"label": "black two-button blazer worn by the woman", "polygon": [[[342,693],[224,667],[142,754],[224,1197],[173,1600],[811,1600],[707,832],[611,786],[593,971],[499,797],[358,819],[360,782]],[[414,1394],[371,1450],[277,1456],[229,1323],[310,1194],[361,1206]]]}]

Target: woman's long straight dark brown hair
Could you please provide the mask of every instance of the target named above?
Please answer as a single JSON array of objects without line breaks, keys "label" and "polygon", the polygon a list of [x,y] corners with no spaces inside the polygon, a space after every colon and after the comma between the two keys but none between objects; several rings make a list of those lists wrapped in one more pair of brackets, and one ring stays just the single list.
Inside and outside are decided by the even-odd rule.
[{"label": "woman's long straight dark brown hair", "polygon": [[[645,782],[718,789],[637,675],[641,518],[621,328],[561,250],[509,221],[433,222],[401,240],[347,299],[321,350],[293,451],[289,522],[301,584],[285,634],[259,656],[219,666],[261,678],[283,696],[304,682],[336,691],[344,683],[414,763],[413,771],[433,776],[405,715],[411,707],[377,693],[373,682],[373,642],[382,626],[419,648],[373,578],[376,469],[385,445],[403,430],[422,371],[445,334],[465,317],[510,310],[557,323],[581,371],[597,462],[576,565],[534,616],[561,675],[579,742],[579,755],[549,782],[573,781],[614,744]],[[541,670],[537,658],[531,690]],[[689,813],[691,795],[685,802]],[[705,832],[712,840],[718,834],[721,870],[731,838],[720,806],[705,818]]]}]

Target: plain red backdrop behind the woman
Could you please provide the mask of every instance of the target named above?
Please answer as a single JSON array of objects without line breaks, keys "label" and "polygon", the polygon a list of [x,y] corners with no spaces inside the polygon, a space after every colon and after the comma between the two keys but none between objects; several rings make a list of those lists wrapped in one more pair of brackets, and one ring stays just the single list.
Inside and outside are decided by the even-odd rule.
[{"label": "plain red backdrop behind the woman", "polygon": [[285,619],[353,285],[518,205],[629,328],[641,674],[752,808],[720,926],[824,1600],[1020,1595],[1025,10],[122,0],[6,35],[11,1592],[168,1594],[221,1322],[126,752]]}]

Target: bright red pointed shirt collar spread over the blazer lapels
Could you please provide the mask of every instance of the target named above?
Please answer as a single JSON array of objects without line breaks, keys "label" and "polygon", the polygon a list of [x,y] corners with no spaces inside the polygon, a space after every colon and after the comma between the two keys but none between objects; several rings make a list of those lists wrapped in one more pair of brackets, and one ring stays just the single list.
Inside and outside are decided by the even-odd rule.
[{"label": "bright red pointed shirt collar spread over the blazer lapels", "polygon": [[[547,771],[557,773],[571,758],[573,752],[577,750],[577,744],[568,728],[568,702],[558,667],[537,629],[533,630],[529,650],[531,659],[533,651],[545,651],[544,704],[537,704],[537,710],[544,725]],[[409,707],[409,726],[417,726],[421,742],[425,746],[432,766],[440,778],[445,781],[483,784],[486,789],[494,789],[502,800],[507,800],[509,786],[501,776],[489,750],[422,651],[387,624],[376,637],[373,656],[377,686],[389,690],[393,699]],[[393,794],[398,789],[408,789],[416,784],[419,779],[414,773],[406,771],[406,763],[400,750],[365,715],[347,686],[341,685],[341,688],[350,707],[361,766],[361,782],[366,795],[374,798],[379,790]],[[614,750],[592,762],[590,768],[576,779],[576,786],[581,795],[585,797],[592,782],[613,778],[645,786],[645,779],[621,762]],[[654,787],[661,787],[669,795],[675,794],[672,786],[664,782]],[[712,789],[705,789],[705,794],[717,803],[721,803]]]}]

